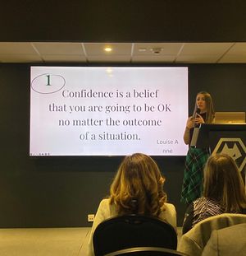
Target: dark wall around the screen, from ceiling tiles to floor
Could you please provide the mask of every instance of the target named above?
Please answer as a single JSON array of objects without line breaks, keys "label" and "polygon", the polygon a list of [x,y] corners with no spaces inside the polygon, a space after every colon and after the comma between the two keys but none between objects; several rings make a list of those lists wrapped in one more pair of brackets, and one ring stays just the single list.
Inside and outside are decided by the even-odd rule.
[{"label": "dark wall around the screen, from ceiling tiles to floor", "polygon": [[[217,111],[246,111],[245,81],[246,64],[190,65],[189,111],[202,90],[212,93]],[[122,157],[30,158],[29,65],[0,64],[0,85],[0,227],[90,226],[87,214],[107,195]],[[155,159],[181,226],[185,158]]]}]

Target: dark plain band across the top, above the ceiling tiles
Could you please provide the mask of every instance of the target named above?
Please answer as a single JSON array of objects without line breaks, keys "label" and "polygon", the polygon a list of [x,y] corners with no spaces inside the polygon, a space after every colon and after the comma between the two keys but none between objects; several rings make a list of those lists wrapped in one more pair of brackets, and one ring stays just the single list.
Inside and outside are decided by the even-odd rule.
[{"label": "dark plain band across the top, above the ceiling tiles", "polygon": [[244,0],[5,0],[0,41],[246,41]]}]

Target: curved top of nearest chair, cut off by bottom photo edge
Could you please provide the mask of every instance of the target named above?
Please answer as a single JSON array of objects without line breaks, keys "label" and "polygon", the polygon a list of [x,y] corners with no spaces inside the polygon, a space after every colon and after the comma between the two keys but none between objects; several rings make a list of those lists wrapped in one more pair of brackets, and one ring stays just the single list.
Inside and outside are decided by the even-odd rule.
[{"label": "curved top of nearest chair, cut off by bottom photo edge", "polygon": [[129,249],[121,249],[119,251],[106,254],[105,256],[188,256],[174,249],[166,249],[160,247],[134,247]]}]

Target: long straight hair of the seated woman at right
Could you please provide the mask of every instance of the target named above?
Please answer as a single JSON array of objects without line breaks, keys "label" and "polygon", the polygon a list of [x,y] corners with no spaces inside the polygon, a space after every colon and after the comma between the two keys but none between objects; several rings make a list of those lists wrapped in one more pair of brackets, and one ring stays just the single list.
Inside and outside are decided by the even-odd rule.
[{"label": "long straight hair of the seated woman at right", "polygon": [[204,197],[213,198],[225,212],[240,212],[246,207],[244,181],[232,157],[210,156],[204,169]]}]

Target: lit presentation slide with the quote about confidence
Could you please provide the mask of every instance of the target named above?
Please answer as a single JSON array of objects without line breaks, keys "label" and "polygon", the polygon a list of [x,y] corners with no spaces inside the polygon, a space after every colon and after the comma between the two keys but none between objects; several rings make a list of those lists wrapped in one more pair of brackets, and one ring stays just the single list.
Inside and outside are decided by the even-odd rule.
[{"label": "lit presentation slide with the quote about confidence", "polygon": [[185,156],[188,67],[30,67],[30,156]]}]

